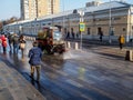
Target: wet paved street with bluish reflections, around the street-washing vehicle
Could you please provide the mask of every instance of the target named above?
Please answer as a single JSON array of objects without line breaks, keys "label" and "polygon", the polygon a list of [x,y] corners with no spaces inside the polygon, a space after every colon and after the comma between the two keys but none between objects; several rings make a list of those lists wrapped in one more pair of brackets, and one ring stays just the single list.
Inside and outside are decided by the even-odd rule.
[{"label": "wet paved street with bluish reflections, around the street-washing vehicle", "polygon": [[95,47],[69,50],[63,56],[44,56],[41,81],[30,79],[27,42],[24,58],[1,51],[0,59],[17,69],[48,100],[133,100],[133,63],[119,48]]}]

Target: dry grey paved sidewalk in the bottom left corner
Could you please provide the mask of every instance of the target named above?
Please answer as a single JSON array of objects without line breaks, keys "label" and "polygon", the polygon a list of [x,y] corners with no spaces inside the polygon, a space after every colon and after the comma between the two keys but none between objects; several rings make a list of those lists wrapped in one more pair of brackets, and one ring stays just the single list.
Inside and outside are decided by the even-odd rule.
[{"label": "dry grey paved sidewalk in the bottom left corner", "polygon": [[18,71],[0,60],[0,100],[47,100]]}]

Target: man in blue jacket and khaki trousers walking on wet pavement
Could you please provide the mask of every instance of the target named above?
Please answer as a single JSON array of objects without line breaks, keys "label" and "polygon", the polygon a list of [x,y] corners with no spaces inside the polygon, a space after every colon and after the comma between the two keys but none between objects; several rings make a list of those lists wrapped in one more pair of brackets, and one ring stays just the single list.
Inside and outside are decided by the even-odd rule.
[{"label": "man in blue jacket and khaki trousers walking on wet pavement", "polygon": [[32,43],[33,48],[29,50],[29,63],[31,66],[31,78],[34,79],[34,70],[37,70],[37,82],[40,80],[40,70],[41,70],[41,58],[42,58],[42,51],[38,47],[38,42],[34,41]]}]

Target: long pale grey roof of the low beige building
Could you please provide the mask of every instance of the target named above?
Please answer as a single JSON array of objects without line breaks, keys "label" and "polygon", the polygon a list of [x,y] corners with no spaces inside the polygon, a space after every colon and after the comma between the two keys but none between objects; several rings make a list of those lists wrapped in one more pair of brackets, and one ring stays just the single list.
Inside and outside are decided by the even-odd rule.
[{"label": "long pale grey roof of the low beige building", "polygon": [[[78,12],[80,10],[83,10],[84,12],[94,12],[94,11],[103,11],[103,10],[109,10],[109,9],[116,9],[116,8],[130,8],[132,4],[122,2],[122,1],[111,1],[111,2],[104,2],[101,3],[99,6],[91,6],[91,7],[84,7],[84,8],[79,8],[76,9]],[[75,10],[75,9],[74,9]],[[18,23],[23,23],[23,22],[30,22],[30,21],[40,21],[40,20],[45,20],[45,19],[52,19],[52,18],[58,18],[58,17],[62,17],[62,16],[69,16],[72,14],[73,10],[68,10],[68,11],[63,11],[57,14],[50,14],[50,16],[44,16],[42,18],[38,18],[38,19],[33,19],[33,20],[23,20],[20,21]],[[16,24],[17,22],[12,23]]]}]

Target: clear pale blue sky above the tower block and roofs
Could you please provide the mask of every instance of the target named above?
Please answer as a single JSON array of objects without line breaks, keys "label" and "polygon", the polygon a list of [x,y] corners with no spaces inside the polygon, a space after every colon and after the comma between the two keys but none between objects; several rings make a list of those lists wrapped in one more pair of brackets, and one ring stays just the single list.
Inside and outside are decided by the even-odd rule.
[{"label": "clear pale blue sky above the tower block and roofs", "polygon": [[[81,8],[85,6],[85,2],[93,0],[61,0],[61,11]],[[101,0],[108,2],[110,0]],[[133,0],[124,0],[133,4]],[[64,2],[64,3],[63,3]],[[64,6],[64,7],[63,7]],[[11,17],[20,17],[20,0],[0,0],[0,20],[6,20]]]}]

